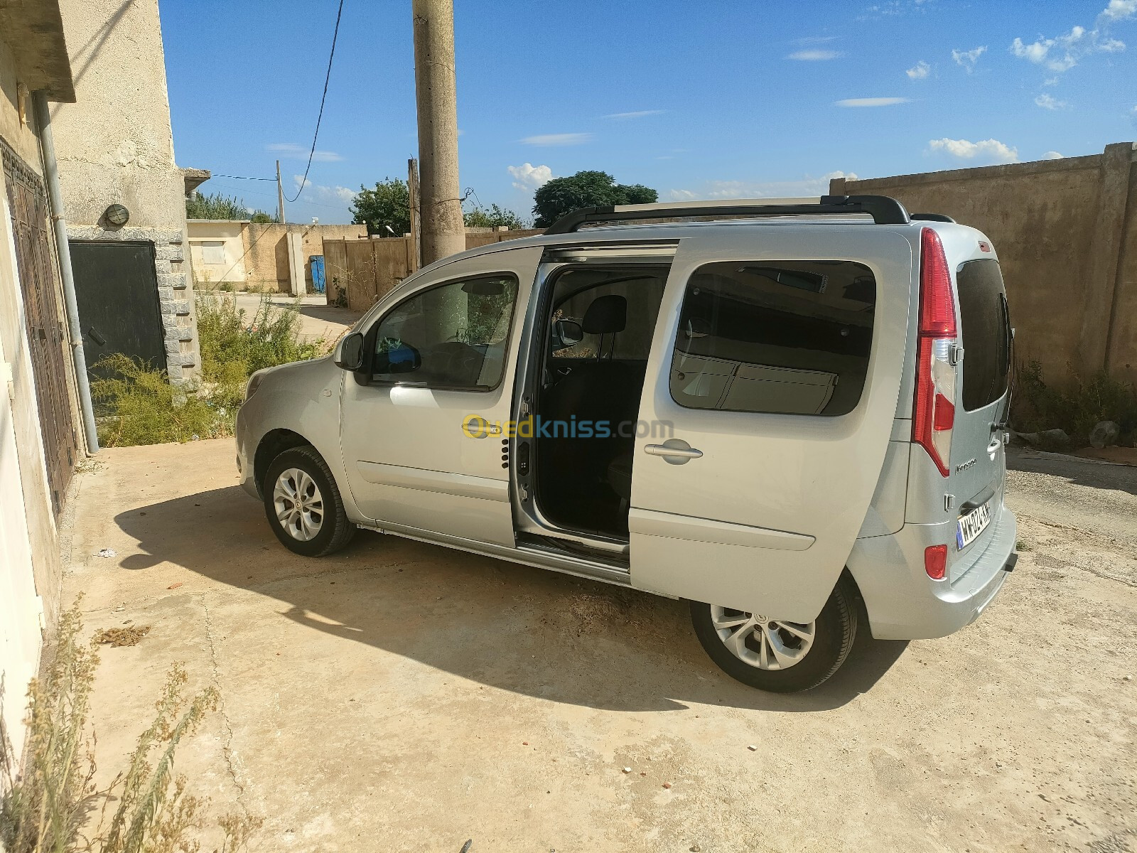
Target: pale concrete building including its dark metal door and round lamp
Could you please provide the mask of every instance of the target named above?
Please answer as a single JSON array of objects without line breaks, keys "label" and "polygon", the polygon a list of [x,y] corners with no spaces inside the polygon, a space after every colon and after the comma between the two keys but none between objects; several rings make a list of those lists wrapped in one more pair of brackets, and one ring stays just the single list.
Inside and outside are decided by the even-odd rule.
[{"label": "pale concrete building including its dark metal door and round lamp", "polygon": [[122,351],[179,381],[199,354],[158,2],[59,7],[76,97],[52,127],[84,346],[92,363]]}]

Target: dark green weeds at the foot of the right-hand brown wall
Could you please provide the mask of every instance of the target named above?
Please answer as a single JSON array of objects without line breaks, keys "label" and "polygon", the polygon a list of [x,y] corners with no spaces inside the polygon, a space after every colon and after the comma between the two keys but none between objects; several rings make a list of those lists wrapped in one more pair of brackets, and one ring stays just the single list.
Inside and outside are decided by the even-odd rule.
[{"label": "dark green weeds at the foot of the right-hand brown wall", "polygon": [[1099,421],[1121,426],[1122,442],[1132,442],[1137,430],[1137,390],[1111,378],[1105,371],[1082,380],[1070,371],[1067,390],[1046,384],[1037,361],[1019,363],[1014,370],[1011,421],[1018,432],[1061,429],[1076,445],[1088,444],[1089,432]]}]

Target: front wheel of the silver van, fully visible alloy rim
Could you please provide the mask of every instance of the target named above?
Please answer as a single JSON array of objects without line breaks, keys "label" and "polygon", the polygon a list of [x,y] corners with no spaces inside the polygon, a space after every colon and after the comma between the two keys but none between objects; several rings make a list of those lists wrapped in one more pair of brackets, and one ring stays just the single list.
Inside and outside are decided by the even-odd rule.
[{"label": "front wheel of the silver van, fully visible alloy rim", "polygon": [[[262,492],[268,527],[289,550],[306,557],[323,557],[342,548],[355,535],[335,478],[310,445],[292,447],[273,459],[265,472]],[[290,494],[302,495],[301,512],[289,512],[285,523],[280,512],[297,506]]]}]

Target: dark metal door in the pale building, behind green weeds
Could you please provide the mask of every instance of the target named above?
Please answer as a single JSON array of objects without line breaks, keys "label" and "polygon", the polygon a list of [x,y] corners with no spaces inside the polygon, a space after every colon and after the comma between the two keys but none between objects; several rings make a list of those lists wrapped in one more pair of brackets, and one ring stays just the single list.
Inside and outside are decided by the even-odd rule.
[{"label": "dark metal door in the pale building, behind green weeds", "polygon": [[90,372],[114,353],[166,370],[153,243],[72,240],[70,250]]}]

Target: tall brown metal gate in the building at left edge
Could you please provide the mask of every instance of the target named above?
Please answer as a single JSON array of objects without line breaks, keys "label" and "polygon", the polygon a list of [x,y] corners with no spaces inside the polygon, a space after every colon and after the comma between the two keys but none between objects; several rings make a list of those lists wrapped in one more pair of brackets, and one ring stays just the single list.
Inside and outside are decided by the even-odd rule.
[{"label": "tall brown metal gate in the building at left edge", "polygon": [[24,296],[24,324],[32,355],[51,506],[58,515],[75,470],[78,442],[67,394],[67,336],[56,292],[48,199],[40,176],[3,140],[0,140],[0,154],[16,241],[16,267]]}]

